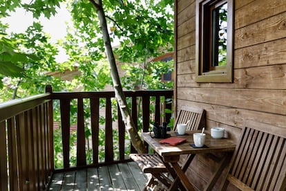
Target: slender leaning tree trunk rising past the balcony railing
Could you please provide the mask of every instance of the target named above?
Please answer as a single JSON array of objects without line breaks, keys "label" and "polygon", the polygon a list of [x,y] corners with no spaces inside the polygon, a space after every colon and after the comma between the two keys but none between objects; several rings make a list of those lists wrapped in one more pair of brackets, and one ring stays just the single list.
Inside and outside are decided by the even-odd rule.
[{"label": "slender leaning tree trunk rising past the balcony railing", "polygon": [[115,57],[113,55],[113,50],[111,47],[111,39],[108,34],[108,28],[106,24],[106,17],[104,14],[104,10],[102,7],[102,0],[95,2],[95,0],[90,0],[93,3],[93,6],[97,9],[97,15],[100,21],[100,27],[102,30],[102,35],[104,39],[104,46],[106,48],[106,54],[108,58],[109,67],[111,69],[111,77],[113,80],[113,87],[115,91],[115,98],[120,106],[120,112],[122,114],[122,120],[124,121],[126,131],[128,132],[128,136],[131,139],[131,143],[133,147],[137,150],[138,153],[146,153],[146,147],[144,143],[140,139],[137,131],[135,131],[135,125],[133,119],[131,118],[130,111],[128,109],[128,105],[126,102],[125,95],[122,91],[122,84],[120,82],[120,77],[117,71],[117,66],[115,62]]}]

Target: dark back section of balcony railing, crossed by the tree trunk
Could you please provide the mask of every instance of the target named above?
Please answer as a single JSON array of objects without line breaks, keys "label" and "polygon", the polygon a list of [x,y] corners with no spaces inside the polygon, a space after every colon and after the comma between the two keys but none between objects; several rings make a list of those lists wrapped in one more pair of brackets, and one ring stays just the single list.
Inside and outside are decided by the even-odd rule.
[{"label": "dark back section of balcony railing, crossed by the tree trunk", "polygon": [[[86,165],[107,165],[111,163],[120,163],[128,160],[126,158],[126,141],[125,141],[125,125],[122,122],[117,104],[113,104],[112,100],[115,98],[113,91],[97,91],[97,92],[53,92],[51,89],[47,89],[51,93],[51,98],[54,102],[59,102],[59,110],[61,113],[61,136],[64,158],[64,169],[70,168],[70,121],[77,121],[77,138],[76,138],[76,167],[82,167]],[[165,113],[163,109],[172,108],[172,103],[169,102],[173,97],[173,90],[155,90],[155,91],[124,91],[126,99],[131,102],[131,115],[135,126],[138,127],[138,111],[142,112],[142,130],[149,131],[150,122],[162,120],[169,122],[171,113]],[[153,99],[152,99],[153,98]],[[153,100],[153,101],[152,101]],[[163,100],[163,102],[162,102]],[[101,109],[100,104],[104,102],[104,109]],[[72,111],[70,108],[72,102],[76,103],[75,115],[70,115]],[[88,102],[86,109],[85,102]],[[151,113],[151,107],[155,107],[155,113]],[[55,104],[54,108],[55,109]],[[88,113],[90,111],[90,113]],[[104,113],[104,125],[100,125],[100,114]],[[164,118],[162,119],[162,114]],[[118,116],[118,120],[114,116]],[[153,116],[153,118],[152,118]],[[92,161],[86,163],[86,137],[85,127],[86,120],[89,121],[88,126],[91,129],[91,144],[92,145]],[[99,129],[104,129],[104,161],[99,161]],[[114,129],[117,131],[114,132]],[[118,143],[113,143],[114,136],[117,136]],[[119,156],[115,158],[115,147],[119,147],[117,151]],[[131,152],[135,152],[131,148]]]}]

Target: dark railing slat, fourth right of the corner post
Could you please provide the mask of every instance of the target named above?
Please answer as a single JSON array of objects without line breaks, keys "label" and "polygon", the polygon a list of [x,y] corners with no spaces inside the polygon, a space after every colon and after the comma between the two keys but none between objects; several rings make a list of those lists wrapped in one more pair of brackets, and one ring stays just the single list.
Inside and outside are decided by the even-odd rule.
[{"label": "dark railing slat, fourth right of the corner post", "polygon": [[106,98],[106,111],[105,111],[105,161],[113,161],[113,129],[112,129],[112,111],[111,111],[111,98]]}]

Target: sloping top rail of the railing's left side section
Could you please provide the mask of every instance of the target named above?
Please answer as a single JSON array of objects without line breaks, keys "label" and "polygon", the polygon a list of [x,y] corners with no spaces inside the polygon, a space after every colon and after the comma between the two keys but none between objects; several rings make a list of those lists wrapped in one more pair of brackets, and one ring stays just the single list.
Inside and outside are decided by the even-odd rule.
[{"label": "sloping top rail of the railing's left side section", "polygon": [[50,93],[41,93],[28,98],[10,100],[0,104],[0,121],[16,116],[18,113],[27,111],[43,102],[48,102]]}]

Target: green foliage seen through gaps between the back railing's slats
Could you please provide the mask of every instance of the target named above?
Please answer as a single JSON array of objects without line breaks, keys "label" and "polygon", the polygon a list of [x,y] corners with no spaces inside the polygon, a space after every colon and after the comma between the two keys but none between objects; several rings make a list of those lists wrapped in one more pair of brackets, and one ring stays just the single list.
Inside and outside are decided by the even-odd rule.
[{"label": "green foliage seen through gaps between the back railing's slats", "polygon": [[[151,104],[150,104],[150,122],[153,122],[153,113],[155,113],[155,107],[153,107],[155,102],[155,98],[151,97]],[[164,98],[161,98],[160,102],[164,102]],[[127,98],[127,102],[129,107],[131,107],[131,99]],[[137,98],[137,102],[140,102],[140,98]],[[106,108],[106,101],[104,98],[99,99],[100,108],[99,110],[102,111],[102,115],[99,115],[99,137],[98,137],[98,160],[99,162],[104,162],[105,158],[105,108]],[[113,147],[114,147],[114,160],[118,160],[120,156],[120,149],[119,145],[119,134],[117,129],[117,102],[115,99],[111,100],[112,105],[112,120],[113,120]],[[171,112],[167,109],[165,112]],[[59,118],[59,101],[54,101],[54,120],[59,125],[59,129],[54,129],[54,147],[55,147],[55,168],[61,168],[64,166],[63,163],[63,149],[62,149],[62,139],[61,139],[61,119]],[[100,112],[99,112],[100,113]],[[142,129],[142,105],[137,109],[137,124],[138,124],[138,131]],[[71,100],[70,102],[70,126],[77,124],[77,100]],[[171,124],[171,123],[170,123]],[[84,99],[84,132],[85,132],[85,140],[86,140],[86,163],[92,164],[93,163],[93,149],[92,142],[92,131],[90,127],[90,102],[89,99]],[[124,147],[124,154],[128,156],[131,153],[131,142],[129,141],[128,134],[125,134],[125,147]],[[70,132],[70,166],[75,166],[77,163],[76,154],[77,154],[77,130],[73,129]]]}]

